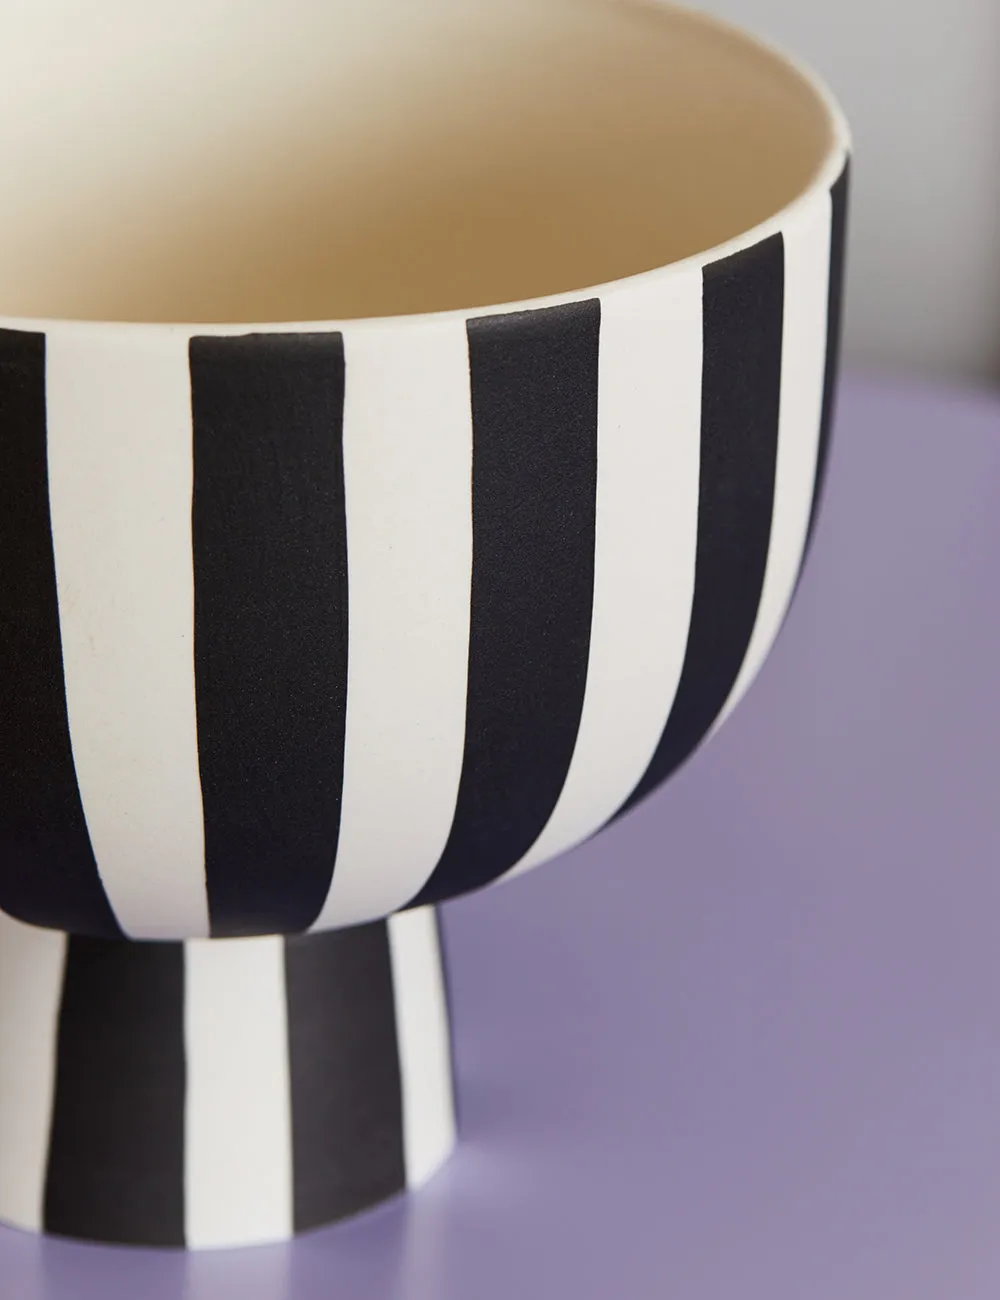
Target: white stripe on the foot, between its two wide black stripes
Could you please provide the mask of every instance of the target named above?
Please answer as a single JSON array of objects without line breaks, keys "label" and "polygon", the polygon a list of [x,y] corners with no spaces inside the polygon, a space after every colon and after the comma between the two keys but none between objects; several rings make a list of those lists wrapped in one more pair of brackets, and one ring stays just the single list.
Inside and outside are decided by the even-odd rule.
[{"label": "white stripe on the foot, between its two wide black stripes", "polygon": [[185,944],[185,1239],[190,1247],[293,1232],[285,941]]}]

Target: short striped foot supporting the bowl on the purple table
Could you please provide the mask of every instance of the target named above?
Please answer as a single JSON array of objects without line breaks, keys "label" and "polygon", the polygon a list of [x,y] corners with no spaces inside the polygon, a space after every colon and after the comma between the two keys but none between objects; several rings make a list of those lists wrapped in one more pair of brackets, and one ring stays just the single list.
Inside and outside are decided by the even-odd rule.
[{"label": "short striped foot supporting the bowl on the purple table", "polygon": [[455,1139],[430,907],[293,939],[127,942],[0,918],[0,1218],[95,1242],[281,1240]]}]

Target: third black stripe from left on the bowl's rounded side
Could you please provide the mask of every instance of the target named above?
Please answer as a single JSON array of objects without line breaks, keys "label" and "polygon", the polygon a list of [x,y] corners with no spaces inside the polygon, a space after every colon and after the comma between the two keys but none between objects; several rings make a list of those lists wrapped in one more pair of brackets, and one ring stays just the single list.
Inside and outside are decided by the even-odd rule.
[{"label": "third black stripe from left on the bowl's rounded side", "polygon": [[451,833],[414,905],[518,862],[566,780],[590,645],[599,330],[598,299],[468,322],[466,749]]}]

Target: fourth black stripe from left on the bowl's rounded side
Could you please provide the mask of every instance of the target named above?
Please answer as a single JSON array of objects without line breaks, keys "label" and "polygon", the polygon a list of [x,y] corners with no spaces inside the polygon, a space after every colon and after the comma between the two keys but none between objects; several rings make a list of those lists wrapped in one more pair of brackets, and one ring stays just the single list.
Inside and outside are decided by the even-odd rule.
[{"label": "fourth black stripe from left on the bowl's rounded side", "polygon": [[704,272],[705,360],[694,599],[678,694],[642,780],[616,815],[704,740],[736,682],[767,567],[782,393],[784,243]]}]

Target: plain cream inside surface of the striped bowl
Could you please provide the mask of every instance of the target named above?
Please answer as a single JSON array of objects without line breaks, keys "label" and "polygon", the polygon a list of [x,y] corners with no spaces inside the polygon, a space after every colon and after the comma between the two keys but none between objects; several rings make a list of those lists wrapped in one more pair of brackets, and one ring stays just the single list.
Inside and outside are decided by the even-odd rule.
[{"label": "plain cream inside surface of the striped bowl", "polygon": [[475,308],[707,250],[831,147],[821,95],[637,0],[60,0],[0,30],[0,316]]}]

